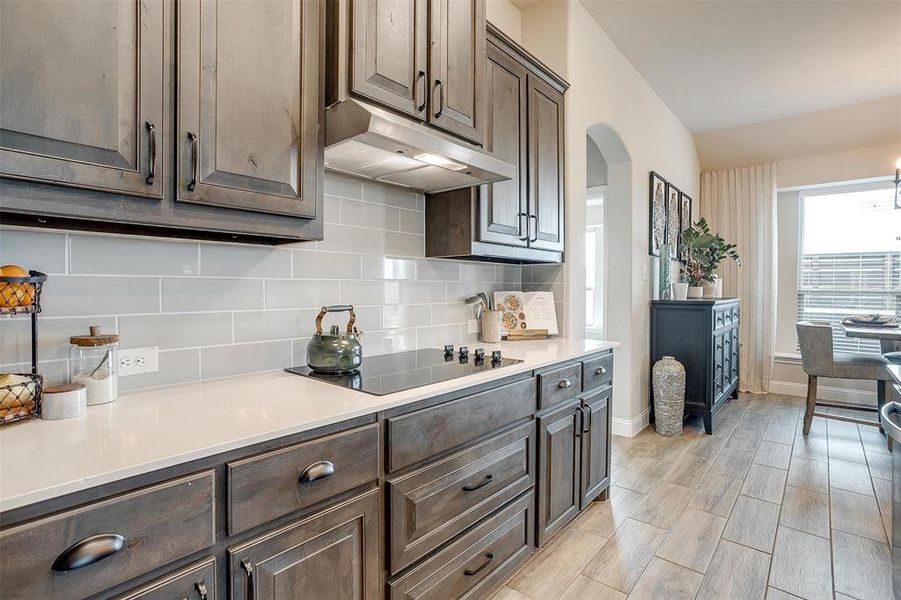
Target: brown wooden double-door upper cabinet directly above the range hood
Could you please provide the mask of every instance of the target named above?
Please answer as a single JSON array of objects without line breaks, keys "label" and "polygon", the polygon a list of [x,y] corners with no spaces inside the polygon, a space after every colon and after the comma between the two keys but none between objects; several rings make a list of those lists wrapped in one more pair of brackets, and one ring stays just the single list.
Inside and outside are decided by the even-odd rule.
[{"label": "brown wooden double-door upper cabinet directly above the range hood", "polygon": [[329,105],[371,100],[482,144],[485,0],[334,0],[328,15]]}]

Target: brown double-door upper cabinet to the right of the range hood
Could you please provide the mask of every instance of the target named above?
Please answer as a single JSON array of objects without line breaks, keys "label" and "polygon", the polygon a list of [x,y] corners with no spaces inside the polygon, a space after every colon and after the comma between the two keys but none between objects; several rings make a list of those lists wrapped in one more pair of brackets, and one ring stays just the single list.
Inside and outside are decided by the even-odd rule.
[{"label": "brown double-door upper cabinet to the right of the range hood", "polygon": [[426,256],[562,262],[569,84],[487,27],[485,149],[518,170],[508,181],[428,195]]}]

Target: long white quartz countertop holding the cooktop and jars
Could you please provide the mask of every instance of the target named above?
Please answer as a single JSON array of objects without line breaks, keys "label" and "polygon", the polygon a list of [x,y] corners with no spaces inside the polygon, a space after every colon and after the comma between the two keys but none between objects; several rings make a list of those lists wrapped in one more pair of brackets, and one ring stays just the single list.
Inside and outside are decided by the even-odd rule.
[{"label": "long white quartz countertop holding the cooktop and jars", "polygon": [[523,362],[385,396],[284,371],[123,394],[84,417],[0,430],[0,512],[617,345],[570,338],[480,344]]}]

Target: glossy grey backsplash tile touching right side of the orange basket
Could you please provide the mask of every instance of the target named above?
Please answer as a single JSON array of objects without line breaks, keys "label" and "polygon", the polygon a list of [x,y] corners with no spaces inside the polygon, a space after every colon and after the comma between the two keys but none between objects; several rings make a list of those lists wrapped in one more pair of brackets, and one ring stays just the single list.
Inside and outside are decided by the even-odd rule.
[{"label": "glossy grey backsplash tile touching right side of the orange basket", "polygon": [[155,277],[48,277],[41,296],[43,315],[128,315],[160,311]]}]

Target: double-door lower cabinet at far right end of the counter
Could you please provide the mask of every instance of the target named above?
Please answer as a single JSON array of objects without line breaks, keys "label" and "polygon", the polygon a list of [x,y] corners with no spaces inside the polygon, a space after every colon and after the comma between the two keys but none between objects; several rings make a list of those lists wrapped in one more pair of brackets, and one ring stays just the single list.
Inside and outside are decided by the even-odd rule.
[{"label": "double-door lower cabinet at far right end of the counter", "polygon": [[610,484],[610,386],[538,418],[538,545]]}]

